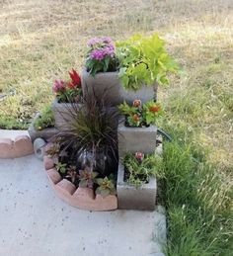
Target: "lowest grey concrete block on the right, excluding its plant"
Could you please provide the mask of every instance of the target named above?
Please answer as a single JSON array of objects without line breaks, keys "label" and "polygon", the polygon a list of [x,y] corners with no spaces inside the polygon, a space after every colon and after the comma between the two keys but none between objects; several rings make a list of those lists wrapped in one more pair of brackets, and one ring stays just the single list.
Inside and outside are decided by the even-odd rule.
[{"label": "lowest grey concrete block on the right, excluding its plant", "polygon": [[151,178],[149,183],[143,184],[139,188],[124,182],[124,166],[119,162],[116,185],[119,209],[153,211],[155,209],[156,190],[156,178]]}]

